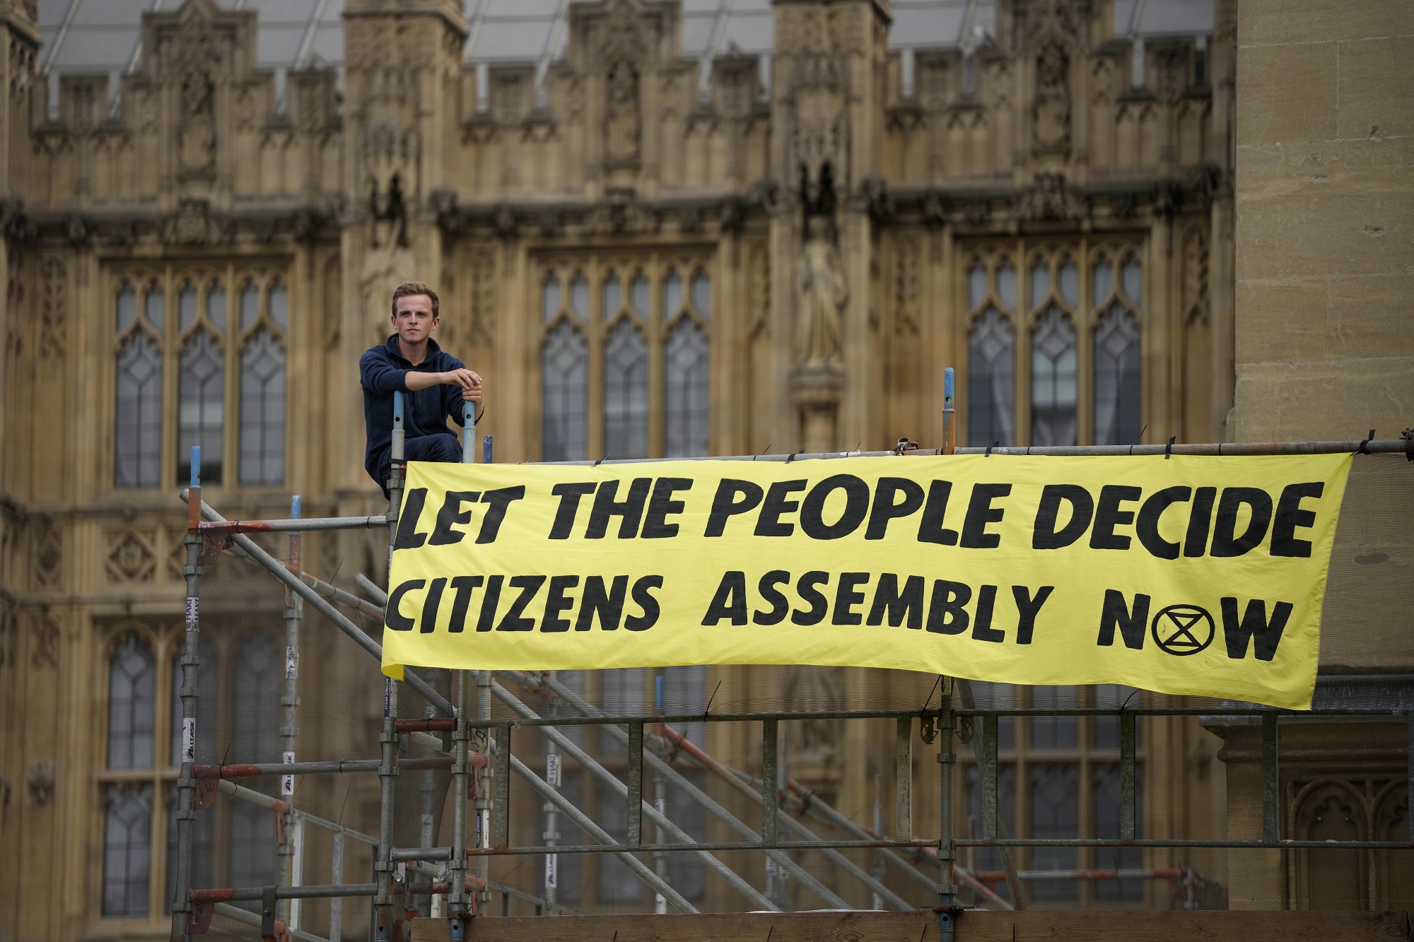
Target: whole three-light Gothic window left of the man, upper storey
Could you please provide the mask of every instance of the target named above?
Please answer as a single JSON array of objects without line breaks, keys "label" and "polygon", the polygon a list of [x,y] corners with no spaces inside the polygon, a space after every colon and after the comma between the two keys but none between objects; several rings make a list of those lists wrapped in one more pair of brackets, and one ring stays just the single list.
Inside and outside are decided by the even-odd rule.
[{"label": "whole three-light Gothic window left of the man, upper storey", "polygon": [[[204,484],[235,484],[229,454],[239,454],[240,484],[281,484],[288,296],[280,277],[167,266],[117,284],[115,485],[184,484],[192,446],[202,450]],[[230,317],[229,284],[240,284]],[[165,317],[168,294],[174,318]],[[177,365],[175,396],[164,396],[164,362]],[[175,430],[165,444],[164,427]]]}]

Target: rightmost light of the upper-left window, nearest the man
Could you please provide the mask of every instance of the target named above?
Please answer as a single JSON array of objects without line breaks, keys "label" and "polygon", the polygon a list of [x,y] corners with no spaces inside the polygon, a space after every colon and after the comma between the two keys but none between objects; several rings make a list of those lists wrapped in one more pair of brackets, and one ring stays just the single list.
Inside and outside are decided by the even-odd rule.
[{"label": "rightmost light of the upper-left window, nearest the man", "polygon": [[242,291],[240,351],[240,482],[284,484],[284,328],[288,297],[276,279],[267,317],[247,315]]}]

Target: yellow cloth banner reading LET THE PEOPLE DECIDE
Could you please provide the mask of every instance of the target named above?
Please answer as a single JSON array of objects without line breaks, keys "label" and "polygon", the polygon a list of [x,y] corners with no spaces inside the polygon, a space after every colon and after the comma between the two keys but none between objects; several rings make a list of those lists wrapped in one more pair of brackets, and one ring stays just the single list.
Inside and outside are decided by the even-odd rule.
[{"label": "yellow cloth banner reading LET THE PEOPLE DECIDE", "polygon": [[383,670],[689,663],[1309,709],[1349,454],[409,465]]}]

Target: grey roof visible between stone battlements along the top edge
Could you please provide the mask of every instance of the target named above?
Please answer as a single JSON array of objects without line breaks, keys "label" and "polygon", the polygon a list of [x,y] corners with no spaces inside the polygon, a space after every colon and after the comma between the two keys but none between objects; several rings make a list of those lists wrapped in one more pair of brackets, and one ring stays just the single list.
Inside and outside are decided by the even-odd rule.
[{"label": "grey roof visible between stone battlements along the top edge", "polygon": [[[141,61],[143,13],[175,10],[182,0],[40,0],[40,68],[124,72]],[[266,69],[344,61],[344,0],[216,0],[259,17],[259,62]],[[550,62],[564,55],[568,8],[577,0],[465,0],[467,59]],[[683,55],[769,54],[771,0],[682,0]],[[1212,31],[1213,0],[1114,0],[1116,35]],[[956,48],[995,31],[997,0],[894,0],[889,47]]]}]

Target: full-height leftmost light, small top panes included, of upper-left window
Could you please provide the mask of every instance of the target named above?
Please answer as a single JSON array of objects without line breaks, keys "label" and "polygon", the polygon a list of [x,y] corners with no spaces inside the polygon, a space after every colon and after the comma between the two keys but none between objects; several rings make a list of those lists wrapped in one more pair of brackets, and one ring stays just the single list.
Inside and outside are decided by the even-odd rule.
[{"label": "full-height leftmost light, small top panes included, of upper-left window", "polygon": [[154,488],[161,484],[161,290],[156,284],[147,290],[147,315],[141,318],[133,286],[124,281],[117,293],[113,484],[120,488]]}]

